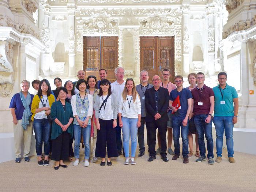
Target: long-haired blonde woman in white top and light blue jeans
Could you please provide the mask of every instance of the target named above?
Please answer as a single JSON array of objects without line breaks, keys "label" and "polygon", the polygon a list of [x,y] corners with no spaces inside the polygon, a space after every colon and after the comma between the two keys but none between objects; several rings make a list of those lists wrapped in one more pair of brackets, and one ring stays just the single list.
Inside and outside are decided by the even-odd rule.
[{"label": "long-haired blonde woman in white top and light blue jeans", "polygon": [[136,164],[134,157],[137,147],[137,131],[140,127],[141,105],[133,79],[127,79],[124,91],[118,103],[119,126],[123,129],[125,165],[129,165],[129,140],[131,133],[131,164]]}]

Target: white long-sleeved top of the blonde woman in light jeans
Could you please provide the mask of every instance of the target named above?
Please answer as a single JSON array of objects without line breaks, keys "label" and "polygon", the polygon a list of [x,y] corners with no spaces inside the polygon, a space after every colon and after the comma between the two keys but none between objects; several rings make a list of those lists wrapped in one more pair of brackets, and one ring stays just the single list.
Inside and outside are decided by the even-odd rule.
[{"label": "white long-sleeved top of the blonde woman in light jeans", "polygon": [[[128,100],[130,102],[132,95],[128,95]],[[119,96],[120,100],[118,102],[118,113],[122,113],[122,117],[127,118],[138,118],[138,114],[141,114],[141,105],[140,105],[140,98],[139,95],[136,95],[136,100],[133,102],[133,99],[131,100],[131,104],[129,107],[127,98],[123,99],[122,95]]]}]

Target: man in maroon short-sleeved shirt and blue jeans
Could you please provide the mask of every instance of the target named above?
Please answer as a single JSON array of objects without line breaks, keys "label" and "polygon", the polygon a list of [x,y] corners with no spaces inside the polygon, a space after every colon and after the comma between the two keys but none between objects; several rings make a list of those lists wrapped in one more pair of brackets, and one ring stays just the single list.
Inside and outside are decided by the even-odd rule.
[{"label": "man in maroon short-sleeved shirt and blue jeans", "polygon": [[197,86],[191,91],[193,99],[190,117],[192,112],[194,115],[194,122],[196,125],[196,132],[198,133],[198,144],[200,150],[200,156],[196,159],[196,162],[202,162],[206,160],[206,148],[204,144],[204,135],[207,140],[207,158],[208,163],[214,164],[213,160],[213,140],[212,140],[212,112],[214,110],[214,93],[210,87],[204,84],[204,74],[198,72],[196,74]]}]

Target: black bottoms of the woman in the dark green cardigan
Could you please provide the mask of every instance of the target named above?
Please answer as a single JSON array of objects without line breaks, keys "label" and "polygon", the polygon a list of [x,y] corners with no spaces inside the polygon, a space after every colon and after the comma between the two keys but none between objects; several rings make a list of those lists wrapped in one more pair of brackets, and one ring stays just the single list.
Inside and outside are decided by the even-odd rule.
[{"label": "black bottoms of the woman in the dark green cardigan", "polygon": [[52,140],[52,160],[68,160],[69,155],[70,134],[67,132],[61,133],[56,139]]}]

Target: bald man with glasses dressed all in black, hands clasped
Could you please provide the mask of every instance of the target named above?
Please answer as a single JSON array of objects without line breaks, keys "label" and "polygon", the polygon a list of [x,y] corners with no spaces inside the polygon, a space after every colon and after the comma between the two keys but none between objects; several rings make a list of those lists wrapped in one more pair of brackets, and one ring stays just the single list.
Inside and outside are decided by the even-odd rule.
[{"label": "bald man with glasses dressed all in black, hands clasped", "polygon": [[163,161],[167,162],[169,159],[166,157],[166,131],[167,121],[167,108],[169,106],[169,93],[168,90],[160,87],[160,77],[153,76],[152,79],[154,87],[148,89],[145,93],[145,105],[147,109],[146,114],[146,127],[147,127],[147,144],[149,158],[147,161],[153,161],[157,152],[155,151],[155,137],[157,129],[161,140],[161,156]]}]

